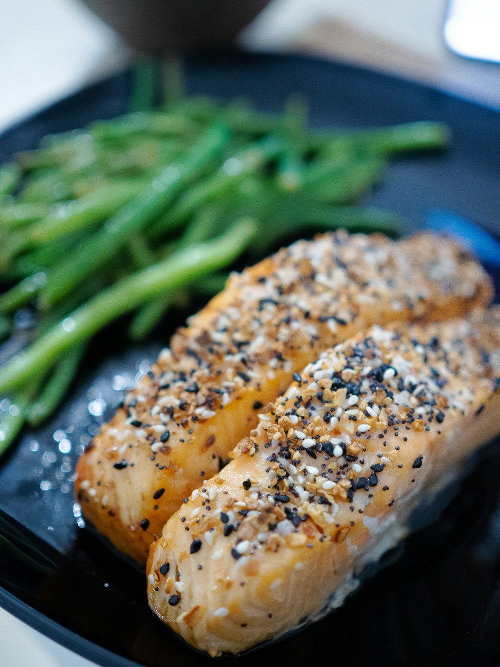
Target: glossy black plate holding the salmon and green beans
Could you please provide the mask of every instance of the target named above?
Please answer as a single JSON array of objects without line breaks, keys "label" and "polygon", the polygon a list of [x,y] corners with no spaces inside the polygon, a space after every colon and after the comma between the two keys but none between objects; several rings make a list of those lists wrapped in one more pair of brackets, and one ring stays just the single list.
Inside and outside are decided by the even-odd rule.
[{"label": "glossy black plate holding the salmon and green beans", "polygon": [[[447,209],[499,231],[500,115],[493,109],[401,79],[302,57],[191,57],[186,69],[188,92],[243,95],[264,110],[278,110],[289,94],[302,93],[315,125],[449,123],[453,147],[443,155],[397,161],[370,202],[401,211],[417,226],[427,209]],[[129,83],[127,74],[111,77],[7,131],[0,137],[0,159],[35,147],[47,133],[123,113]],[[169,319],[161,337],[141,348],[127,346],[119,327],[113,348],[106,344],[109,337],[97,340],[59,414],[25,434],[0,466],[0,604],[107,667],[213,664],[153,617],[143,573],[78,527],[72,496],[83,445],[113,412],[123,385],[147,370],[141,361],[155,358],[176,323]],[[402,656],[408,667],[499,663],[499,479],[500,456],[493,446],[441,518],[409,538],[403,556],[341,610],[285,642],[222,658],[221,664],[335,660],[375,667],[399,665]]]}]

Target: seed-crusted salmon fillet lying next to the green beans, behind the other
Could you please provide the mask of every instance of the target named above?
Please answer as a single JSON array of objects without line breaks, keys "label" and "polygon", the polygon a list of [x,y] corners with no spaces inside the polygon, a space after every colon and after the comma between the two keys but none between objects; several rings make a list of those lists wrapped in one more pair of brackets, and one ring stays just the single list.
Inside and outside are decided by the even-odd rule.
[{"label": "seed-crusted salmon fillet lying next to the green beans, behind the other", "polygon": [[291,373],[373,323],[462,315],[489,278],[453,241],[325,234],[241,275],[179,329],[81,458],[85,518],[139,563]]}]

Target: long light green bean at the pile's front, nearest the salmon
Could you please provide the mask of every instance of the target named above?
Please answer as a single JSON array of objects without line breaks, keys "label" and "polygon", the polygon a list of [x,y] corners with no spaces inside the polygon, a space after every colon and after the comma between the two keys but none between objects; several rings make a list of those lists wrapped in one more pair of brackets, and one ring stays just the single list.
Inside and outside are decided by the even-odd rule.
[{"label": "long light green bean at the pile's front, nearest the salmon", "polygon": [[7,362],[0,370],[0,392],[21,388],[35,374],[47,371],[61,354],[155,295],[227,266],[249,245],[256,231],[255,222],[240,221],[221,236],[181,249],[104,289]]}]

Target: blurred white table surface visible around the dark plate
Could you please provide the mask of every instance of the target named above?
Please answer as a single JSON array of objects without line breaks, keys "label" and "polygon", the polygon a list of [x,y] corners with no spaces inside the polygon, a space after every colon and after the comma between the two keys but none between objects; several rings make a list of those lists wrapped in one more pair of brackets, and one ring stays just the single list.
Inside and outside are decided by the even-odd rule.
[{"label": "blurred white table surface visible around the dark plate", "polygon": [[[251,49],[333,55],[500,105],[500,68],[457,58],[445,0],[273,0],[241,37]],[[369,45],[367,49],[366,45]],[[130,49],[77,0],[0,1],[0,131],[124,67]],[[2,667],[91,667],[0,609]]]}]

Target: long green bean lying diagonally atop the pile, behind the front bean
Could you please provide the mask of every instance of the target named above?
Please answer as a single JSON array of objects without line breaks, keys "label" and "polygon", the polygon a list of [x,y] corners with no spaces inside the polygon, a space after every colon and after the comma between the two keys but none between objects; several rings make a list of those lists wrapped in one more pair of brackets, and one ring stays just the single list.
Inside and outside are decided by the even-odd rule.
[{"label": "long green bean lying diagonally atop the pile, behind the front bean", "polygon": [[183,187],[205,171],[228,138],[225,127],[211,127],[183,159],[163,169],[135,199],[119,209],[99,231],[82,241],[73,255],[63,260],[47,277],[40,293],[41,307],[47,309],[57,303],[81,280],[109,261],[131,233],[155,219]]}]

